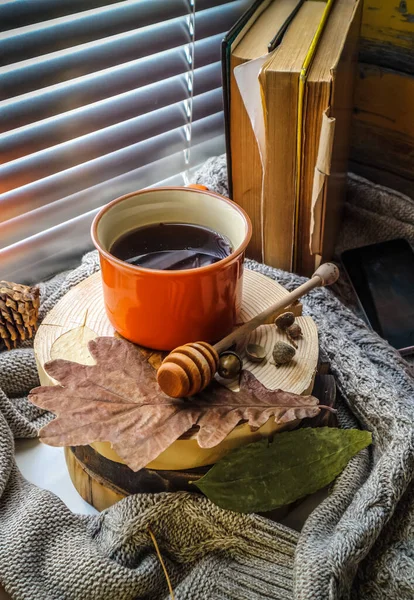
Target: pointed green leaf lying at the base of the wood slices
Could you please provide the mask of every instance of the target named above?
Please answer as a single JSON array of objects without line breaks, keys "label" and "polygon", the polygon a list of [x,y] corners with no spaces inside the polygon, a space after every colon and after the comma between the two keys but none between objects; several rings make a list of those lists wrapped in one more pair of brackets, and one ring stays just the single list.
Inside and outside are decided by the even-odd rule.
[{"label": "pointed green leaf lying at the base of the wood slices", "polygon": [[371,442],[359,429],[286,431],[233,450],[195,485],[221,508],[265,512],[325,487]]}]

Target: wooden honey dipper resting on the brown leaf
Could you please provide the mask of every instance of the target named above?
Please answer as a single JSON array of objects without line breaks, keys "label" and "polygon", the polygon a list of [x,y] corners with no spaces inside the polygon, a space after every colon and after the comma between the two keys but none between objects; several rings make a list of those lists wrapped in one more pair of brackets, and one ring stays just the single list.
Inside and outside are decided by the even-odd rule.
[{"label": "wooden honey dipper resting on the brown leaf", "polygon": [[244,323],[217,344],[192,342],[175,348],[162,362],[157,371],[157,381],[162,391],[172,398],[185,398],[201,392],[213,379],[219,362],[219,354],[240,342],[260,325],[275,319],[293,302],[314,288],[332,285],[339,277],[338,268],[332,263],[321,265],[311,279],[290,292],[272,306]]}]

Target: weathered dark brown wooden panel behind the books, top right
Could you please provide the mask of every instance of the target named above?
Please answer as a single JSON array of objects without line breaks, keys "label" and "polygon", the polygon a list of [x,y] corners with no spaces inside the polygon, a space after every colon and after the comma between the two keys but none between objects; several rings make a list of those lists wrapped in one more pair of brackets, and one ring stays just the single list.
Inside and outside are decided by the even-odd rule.
[{"label": "weathered dark brown wooden panel behind the books, top right", "polygon": [[414,0],[364,0],[351,170],[414,192]]}]

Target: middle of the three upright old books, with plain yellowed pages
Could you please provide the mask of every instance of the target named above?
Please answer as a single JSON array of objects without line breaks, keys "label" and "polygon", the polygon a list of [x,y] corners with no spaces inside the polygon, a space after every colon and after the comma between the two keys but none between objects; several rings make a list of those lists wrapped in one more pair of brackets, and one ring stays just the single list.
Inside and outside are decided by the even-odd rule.
[{"label": "middle of the three upright old books, with plain yellowed pages", "polygon": [[325,7],[325,2],[303,3],[259,75],[266,132],[263,260],[286,271],[294,268],[299,78]]}]

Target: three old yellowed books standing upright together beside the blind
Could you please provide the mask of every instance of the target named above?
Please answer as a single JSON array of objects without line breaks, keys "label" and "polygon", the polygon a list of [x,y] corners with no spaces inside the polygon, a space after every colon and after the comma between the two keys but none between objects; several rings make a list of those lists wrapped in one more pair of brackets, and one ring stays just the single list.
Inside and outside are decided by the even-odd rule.
[{"label": "three old yellowed books standing upright together beside the blind", "polygon": [[230,196],[249,255],[310,275],[341,221],[360,0],[259,0],[223,41]]}]

